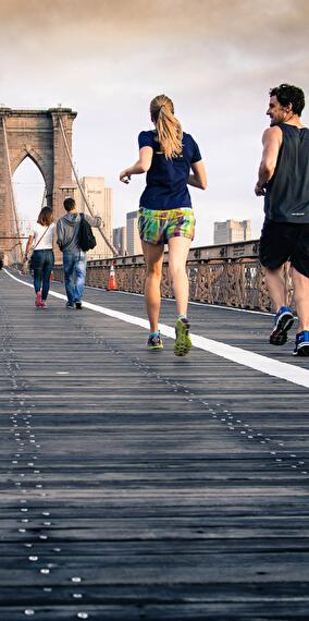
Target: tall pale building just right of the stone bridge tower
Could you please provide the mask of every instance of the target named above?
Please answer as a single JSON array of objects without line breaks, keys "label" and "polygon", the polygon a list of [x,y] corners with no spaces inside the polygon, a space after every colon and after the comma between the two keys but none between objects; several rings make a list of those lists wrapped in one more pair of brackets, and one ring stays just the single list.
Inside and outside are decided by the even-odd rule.
[{"label": "tall pale building just right of the stone bridge tower", "polygon": [[[94,215],[102,218],[102,232],[108,241],[112,244],[112,209],[113,209],[113,191],[106,187],[103,176],[83,176],[81,185],[89,202],[90,209]],[[76,190],[76,205],[81,211],[88,214],[88,208],[78,188]],[[92,229],[97,245],[92,251],[88,251],[88,259],[108,258],[112,256],[112,252],[103,240],[98,229]]]}]

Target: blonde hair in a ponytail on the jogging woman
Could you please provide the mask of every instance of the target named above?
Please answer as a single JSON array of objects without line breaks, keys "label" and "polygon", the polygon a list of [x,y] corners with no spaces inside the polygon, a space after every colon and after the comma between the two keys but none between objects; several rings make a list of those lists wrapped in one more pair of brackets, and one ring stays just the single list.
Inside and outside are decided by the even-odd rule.
[{"label": "blonde hair in a ponytail on the jogging woman", "polygon": [[183,130],[174,115],[174,105],[166,95],[158,95],[150,102],[151,120],[156,124],[160,148],[165,158],[177,157],[183,150]]}]

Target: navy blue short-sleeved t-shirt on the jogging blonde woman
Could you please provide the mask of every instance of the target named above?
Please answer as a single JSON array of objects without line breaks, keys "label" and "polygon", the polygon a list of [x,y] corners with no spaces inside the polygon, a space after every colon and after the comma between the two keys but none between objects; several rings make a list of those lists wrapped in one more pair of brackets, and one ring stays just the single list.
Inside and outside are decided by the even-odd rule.
[{"label": "navy blue short-sleeved t-shirt on the jogging blonde woman", "polygon": [[156,131],[140,132],[138,145],[139,148],[153,149],[151,166],[146,176],[146,188],[140,196],[140,207],[162,211],[191,207],[187,182],[191,163],[200,161],[201,155],[190,134],[183,134],[183,153],[171,159],[160,150]]}]

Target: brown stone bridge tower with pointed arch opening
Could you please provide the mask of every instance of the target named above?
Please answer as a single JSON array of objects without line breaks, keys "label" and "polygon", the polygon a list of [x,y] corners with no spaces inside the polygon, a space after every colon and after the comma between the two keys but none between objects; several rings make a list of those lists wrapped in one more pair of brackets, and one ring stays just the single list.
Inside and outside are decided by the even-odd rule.
[{"label": "brown stone bridge tower with pointed arch opening", "polygon": [[47,193],[47,205],[55,219],[62,215],[63,194],[73,191],[72,169],[60,119],[72,153],[72,124],[76,117],[71,108],[48,110],[13,110],[0,108],[0,253],[5,263],[12,260],[11,248],[18,234],[11,190],[11,175],[29,157],[40,170]]}]

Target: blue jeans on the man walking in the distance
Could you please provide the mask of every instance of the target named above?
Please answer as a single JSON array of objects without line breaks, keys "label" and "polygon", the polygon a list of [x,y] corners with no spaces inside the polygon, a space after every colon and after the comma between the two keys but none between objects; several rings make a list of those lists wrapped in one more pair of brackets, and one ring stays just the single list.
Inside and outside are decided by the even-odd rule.
[{"label": "blue jeans on the man walking in the distance", "polygon": [[69,304],[81,302],[84,294],[87,256],[83,251],[63,253],[63,271]]}]

